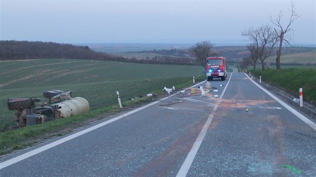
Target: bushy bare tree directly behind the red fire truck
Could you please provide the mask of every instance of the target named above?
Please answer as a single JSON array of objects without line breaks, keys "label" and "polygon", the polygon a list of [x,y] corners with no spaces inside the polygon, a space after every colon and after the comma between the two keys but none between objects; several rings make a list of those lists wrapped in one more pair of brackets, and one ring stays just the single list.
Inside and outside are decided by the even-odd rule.
[{"label": "bushy bare tree directly behind the red fire truck", "polygon": [[213,50],[213,43],[211,43],[209,40],[197,42],[195,45],[189,48],[189,52],[197,59],[197,62],[204,68],[206,68],[206,58],[218,54],[218,52]]}]

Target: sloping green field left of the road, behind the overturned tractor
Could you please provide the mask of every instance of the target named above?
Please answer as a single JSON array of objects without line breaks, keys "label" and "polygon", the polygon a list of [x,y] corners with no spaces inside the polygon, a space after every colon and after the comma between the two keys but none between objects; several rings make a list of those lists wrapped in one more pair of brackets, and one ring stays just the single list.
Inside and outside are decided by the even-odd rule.
[{"label": "sloping green field left of the road, behind the overturned tractor", "polygon": [[[11,97],[41,97],[43,91],[73,91],[89,101],[90,109],[115,104],[164,86],[172,87],[203,74],[202,66],[138,64],[77,59],[0,61],[0,131],[15,125]],[[148,81],[149,80],[149,81]]]}]

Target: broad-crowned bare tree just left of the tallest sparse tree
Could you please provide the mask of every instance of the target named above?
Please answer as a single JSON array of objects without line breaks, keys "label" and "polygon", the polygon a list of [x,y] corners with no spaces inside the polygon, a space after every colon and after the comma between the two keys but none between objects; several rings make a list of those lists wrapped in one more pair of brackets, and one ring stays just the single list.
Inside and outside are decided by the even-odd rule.
[{"label": "broad-crowned bare tree just left of the tallest sparse tree", "polygon": [[[273,47],[277,42],[277,36],[269,25],[261,25],[258,28],[249,28],[241,33],[243,36],[248,36],[252,41],[253,56],[259,58],[262,65],[262,70],[265,70],[264,60],[269,57],[273,51]],[[250,51],[251,52],[251,51]]]}]

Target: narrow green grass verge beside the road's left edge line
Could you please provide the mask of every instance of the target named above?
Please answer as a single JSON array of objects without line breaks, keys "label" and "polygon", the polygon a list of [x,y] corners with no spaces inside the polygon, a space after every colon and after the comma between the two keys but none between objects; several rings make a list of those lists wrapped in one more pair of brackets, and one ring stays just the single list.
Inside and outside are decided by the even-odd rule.
[{"label": "narrow green grass verge beside the road's left edge line", "polygon": [[[195,78],[196,82],[205,80],[205,75]],[[192,85],[192,80],[175,85],[176,88],[185,88]],[[161,88],[151,91],[152,94],[157,94],[157,97],[140,97],[135,100],[125,100],[122,102],[123,107],[137,107],[145,103],[159,99],[159,96],[166,95]],[[104,106],[101,108],[90,110],[87,113],[74,115],[70,118],[61,118],[54,121],[36,124],[10,131],[0,132],[0,155],[10,153],[14,150],[22,149],[27,146],[34,145],[45,139],[67,134],[77,127],[87,125],[98,119],[106,118],[113,112],[119,112],[126,109],[118,108],[117,104]]]}]

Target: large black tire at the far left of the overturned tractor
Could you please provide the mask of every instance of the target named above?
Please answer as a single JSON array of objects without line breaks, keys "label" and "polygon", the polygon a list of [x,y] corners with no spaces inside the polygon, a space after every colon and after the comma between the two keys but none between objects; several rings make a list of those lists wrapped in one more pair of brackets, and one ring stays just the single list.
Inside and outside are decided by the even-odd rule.
[{"label": "large black tire at the far left of the overturned tractor", "polygon": [[10,98],[8,99],[9,110],[21,110],[34,108],[35,103],[32,98]]}]

